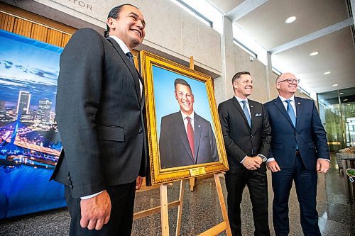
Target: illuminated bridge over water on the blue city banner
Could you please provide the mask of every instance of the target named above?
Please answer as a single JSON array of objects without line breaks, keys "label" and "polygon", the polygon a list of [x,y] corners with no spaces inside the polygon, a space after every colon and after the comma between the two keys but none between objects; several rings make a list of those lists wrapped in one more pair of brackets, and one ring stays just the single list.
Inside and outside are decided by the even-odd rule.
[{"label": "illuminated bridge over water on the blue city banner", "polygon": [[0,128],[0,155],[9,161],[55,166],[62,146],[28,128],[21,123],[20,117],[19,114],[14,123]]}]

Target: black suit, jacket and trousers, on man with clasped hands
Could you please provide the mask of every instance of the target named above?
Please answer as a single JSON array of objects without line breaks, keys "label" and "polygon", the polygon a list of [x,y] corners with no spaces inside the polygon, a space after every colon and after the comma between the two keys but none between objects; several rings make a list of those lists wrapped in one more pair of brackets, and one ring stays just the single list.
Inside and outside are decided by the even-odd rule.
[{"label": "black suit, jacket and trousers, on man with clasped hands", "polygon": [[251,127],[243,108],[233,96],[219,104],[224,145],[229,164],[226,172],[228,192],[228,217],[233,235],[241,235],[241,198],[247,185],[253,204],[255,235],[270,235],[268,229],[268,186],[266,164],[256,170],[248,170],[241,164],[244,157],[263,154],[268,157],[271,142],[271,128],[268,114],[261,103],[248,99],[251,113]]}]

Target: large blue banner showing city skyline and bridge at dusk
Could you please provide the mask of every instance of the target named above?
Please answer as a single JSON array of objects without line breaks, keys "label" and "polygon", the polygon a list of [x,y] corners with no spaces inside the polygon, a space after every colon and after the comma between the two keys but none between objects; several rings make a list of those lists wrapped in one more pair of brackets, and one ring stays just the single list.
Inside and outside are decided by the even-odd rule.
[{"label": "large blue banner showing city skyline and bridge at dusk", "polygon": [[61,47],[0,30],[0,219],[66,206],[48,181],[62,143],[55,120]]}]

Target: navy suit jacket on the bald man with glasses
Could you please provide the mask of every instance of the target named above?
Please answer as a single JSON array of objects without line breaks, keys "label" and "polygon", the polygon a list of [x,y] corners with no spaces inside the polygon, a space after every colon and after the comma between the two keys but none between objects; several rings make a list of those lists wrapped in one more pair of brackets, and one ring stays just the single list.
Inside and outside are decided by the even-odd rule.
[{"label": "navy suit jacket on the bald man with glasses", "polygon": [[314,101],[295,97],[296,128],[278,97],[265,103],[271,124],[271,153],[281,169],[293,168],[296,143],[306,169],[315,169],[318,158],[329,159],[327,137]]}]

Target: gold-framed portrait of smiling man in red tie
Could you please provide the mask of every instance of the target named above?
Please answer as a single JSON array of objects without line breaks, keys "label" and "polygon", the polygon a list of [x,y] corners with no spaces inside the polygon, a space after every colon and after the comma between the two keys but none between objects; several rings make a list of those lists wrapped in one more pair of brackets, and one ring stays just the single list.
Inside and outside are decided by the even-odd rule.
[{"label": "gold-framed portrait of smiling man in red tie", "polygon": [[148,185],[228,170],[212,79],[141,51],[150,172]]}]

